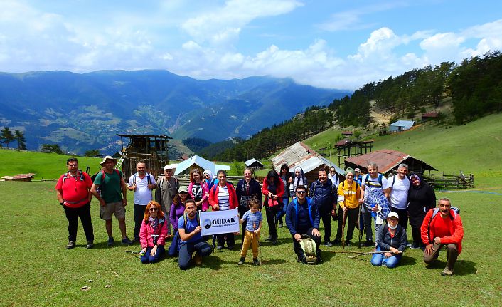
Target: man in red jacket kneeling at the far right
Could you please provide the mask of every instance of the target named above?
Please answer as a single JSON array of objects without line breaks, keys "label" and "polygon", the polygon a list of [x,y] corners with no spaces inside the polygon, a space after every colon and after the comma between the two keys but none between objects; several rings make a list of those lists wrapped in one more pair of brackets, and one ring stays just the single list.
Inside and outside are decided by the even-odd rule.
[{"label": "man in red jacket kneeling at the far right", "polygon": [[447,266],[441,275],[453,275],[456,257],[462,251],[464,227],[462,227],[460,215],[452,209],[452,202],[449,199],[439,199],[439,209],[430,209],[427,212],[422,223],[421,234],[422,242],[425,244],[424,262],[426,264],[434,262],[439,256],[439,250],[446,245]]}]

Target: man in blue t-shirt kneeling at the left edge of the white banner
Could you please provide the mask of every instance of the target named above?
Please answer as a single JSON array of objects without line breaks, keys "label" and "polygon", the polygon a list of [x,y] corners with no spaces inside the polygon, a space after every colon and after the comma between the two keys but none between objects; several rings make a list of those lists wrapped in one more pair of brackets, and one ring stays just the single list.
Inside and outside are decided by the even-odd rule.
[{"label": "man in blue t-shirt kneeling at the left edge of the white banner", "polygon": [[[194,251],[196,254],[193,257],[193,261],[196,266],[200,266],[202,264],[202,257],[209,256],[213,251],[211,246],[202,239],[202,227],[200,221],[198,220],[195,200],[186,200],[185,211],[186,214],[178,219],[178,231],[181,239],[178,265],[182,270],[190,268],[192,254]],[[186,217],[188,217],[188,219],[185,222]]]}]

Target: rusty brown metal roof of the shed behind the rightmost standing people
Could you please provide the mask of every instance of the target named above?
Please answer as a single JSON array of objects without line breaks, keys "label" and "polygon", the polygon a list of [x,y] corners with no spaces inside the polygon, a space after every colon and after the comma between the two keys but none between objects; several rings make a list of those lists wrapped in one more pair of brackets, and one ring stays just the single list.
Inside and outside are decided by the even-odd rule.
[{"label": "rusty brown metal roof of the shed behind the rightmost standing people", "polygon": [[382,174],[397,170],[397,166],[400,165],[400,163],[406,163],[408,167],[410,167],[410,172],[420,172],[423,174],[426,170],[429,172],[431,170],[436,170],[426,162],[397,150],[376,150],[366,155],[348,157],[345,160],[345,166],[352,168],[359,167],[361,172],[367,173],[369,162],[375,162],[378,165],[378,172]]}]

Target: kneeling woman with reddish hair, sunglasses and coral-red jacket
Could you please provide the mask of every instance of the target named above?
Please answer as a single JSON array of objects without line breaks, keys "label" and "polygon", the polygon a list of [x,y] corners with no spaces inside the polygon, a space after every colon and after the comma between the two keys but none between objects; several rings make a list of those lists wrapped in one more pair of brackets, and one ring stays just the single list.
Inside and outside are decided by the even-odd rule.
[{"label": "kneeling woman with reddish hair, sunglasses and coral-red jacket", "polygon": [[139,229],[141,242],[141,262],[144,264],[159,261],[164,254],[167,236],[167,221],[161,205],[151,201],[146,205],[144,219]]}]

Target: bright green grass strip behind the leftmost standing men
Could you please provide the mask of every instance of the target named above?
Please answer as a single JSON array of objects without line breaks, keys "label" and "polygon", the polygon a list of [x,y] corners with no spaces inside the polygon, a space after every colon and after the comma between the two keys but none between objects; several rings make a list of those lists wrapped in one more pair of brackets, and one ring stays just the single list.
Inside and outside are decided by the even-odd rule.
[{"label": "bright green grass strip behind the leftmost standing men", "polygon": [[[35,173],[35,179],[57,179],[66,170],[67,155],[42,152],[20,152],[17,150],[0,150],[0,177],[17,174]],[[80,169],[87,166],[92,173],[100,167],[100,158],[78,157]]]}]

